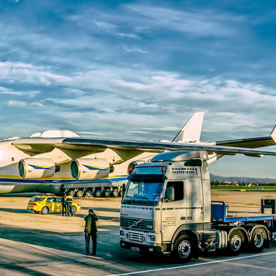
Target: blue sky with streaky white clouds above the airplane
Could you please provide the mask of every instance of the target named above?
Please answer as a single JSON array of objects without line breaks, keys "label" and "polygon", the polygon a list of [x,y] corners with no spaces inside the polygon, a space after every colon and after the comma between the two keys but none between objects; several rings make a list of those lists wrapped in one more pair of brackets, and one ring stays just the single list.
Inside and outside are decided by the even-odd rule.
[{"label": "blue sky with streaky white clouds above the airplane", "polygon": [[[0,139],[172,140],[199,111],[201,141],[269,136],[275,29],[275,1],[0,0]],[[276,178],[275,164],[224,157],[210,172]]]}]

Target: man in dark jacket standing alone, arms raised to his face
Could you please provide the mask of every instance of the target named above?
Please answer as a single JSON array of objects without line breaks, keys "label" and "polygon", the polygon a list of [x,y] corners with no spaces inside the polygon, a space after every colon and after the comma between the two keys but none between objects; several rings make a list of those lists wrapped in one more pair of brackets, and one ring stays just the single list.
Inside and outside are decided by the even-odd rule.
[{"label": "man in dark jacket standing alone, arms raised to his face", "polygon": [[84,237],[86,239],[86,255],[89,255],[90,237],[92,238],[92,256],[96,255],[97,250],[97,226],[96,221],[99,218],[95,215],[92,209],[89,210],[88,215],[84,218],[86,221],[86,228],[84,229]]}]

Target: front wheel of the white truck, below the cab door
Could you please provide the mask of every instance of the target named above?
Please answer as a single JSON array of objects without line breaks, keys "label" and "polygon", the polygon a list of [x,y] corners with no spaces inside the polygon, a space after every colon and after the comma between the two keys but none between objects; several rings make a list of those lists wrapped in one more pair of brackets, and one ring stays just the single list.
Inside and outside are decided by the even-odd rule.
[{"label": "front wheel of the white truck, below the cab door", "polygon": [[171,257],[181,263],[189,262],[193,256],[195,245],[189,235],[180,235],[173,246]]}]

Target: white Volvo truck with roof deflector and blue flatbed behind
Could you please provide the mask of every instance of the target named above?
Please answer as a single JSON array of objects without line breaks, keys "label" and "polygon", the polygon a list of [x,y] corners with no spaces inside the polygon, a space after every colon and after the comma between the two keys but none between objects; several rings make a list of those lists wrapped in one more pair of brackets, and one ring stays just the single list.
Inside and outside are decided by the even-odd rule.
[{"label": "white Volvo truck with roof deflector and blue flatbed behind", "polygon": [[211,203],[207,159],[204,150],[164,152],[135,167],[121,202],[122,248],[188,262],[200,250],[237,255],[246,246],[268,247],[275,229],[262,221],[275,215],[227,217],[224,202]]}]

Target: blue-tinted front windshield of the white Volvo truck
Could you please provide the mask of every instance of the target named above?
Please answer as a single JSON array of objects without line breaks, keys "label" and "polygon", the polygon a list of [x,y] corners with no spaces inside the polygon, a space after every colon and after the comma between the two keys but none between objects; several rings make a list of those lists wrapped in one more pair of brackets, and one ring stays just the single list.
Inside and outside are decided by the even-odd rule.
[{"label": "blue-tinted front windshield of the white Volvo truck", "polygon": [[123,203],[157,205],[162,187],[162,182],[129,181]]}]

